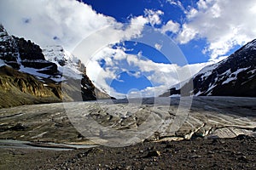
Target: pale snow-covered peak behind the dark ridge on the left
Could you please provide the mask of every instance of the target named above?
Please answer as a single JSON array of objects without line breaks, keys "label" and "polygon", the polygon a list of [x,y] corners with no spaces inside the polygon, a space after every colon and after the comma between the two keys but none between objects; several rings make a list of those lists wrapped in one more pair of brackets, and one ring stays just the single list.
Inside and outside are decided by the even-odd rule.
[{"label": "pale snow-covered peak behind the dark ridge on the left", "polygon": [[[47,46],[43,49],[43,54],[45,59],[57,65],[58,71],[62,73],[63,82],[73,84],[76,88],[79,88],[82,82],[81,89],[83,91],[83,99],[88,100],[88,95],[85,96],[84,94],[90,94],[90,90],[94,90],[94,94],[90,94],[90,97],[95,96],[96,99],[111,99],[108,94],[102,92],[90,82],[89,77],[86,76],[86,67],[81,60],[67,52],[61,46]],[[78,80],[80,80],[80,82]],[[63,91],[67,89],[65,83],[62,84],[62,88]],[[75,98],[78,99],[79,96]]]}]

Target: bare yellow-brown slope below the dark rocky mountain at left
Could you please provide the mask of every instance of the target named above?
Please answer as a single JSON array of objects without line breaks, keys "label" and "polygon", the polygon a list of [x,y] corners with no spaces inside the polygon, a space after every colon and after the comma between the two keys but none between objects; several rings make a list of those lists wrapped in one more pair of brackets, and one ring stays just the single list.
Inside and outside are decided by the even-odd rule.
[{"label": "bare yellow-brown slope below the dark rocky mountain at left", "polygon": [[61,102],[61,86],[45,84],[12,67],[0,67],[0,108],[16,105]]}]

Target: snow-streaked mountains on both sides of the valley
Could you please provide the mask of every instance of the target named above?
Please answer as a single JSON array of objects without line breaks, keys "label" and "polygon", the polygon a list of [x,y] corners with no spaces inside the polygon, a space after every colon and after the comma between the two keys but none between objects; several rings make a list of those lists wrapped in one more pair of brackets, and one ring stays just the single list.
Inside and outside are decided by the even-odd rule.
[{"label": "snow-streaked mountains on both sides of the valley", "polygon": [[[111,99],[93,85],[84,64],[73,54],[61,46],[42,49],[30,40],[9,35],[2,25],[0,93],[0,108]],[[256,39],[160,96],[180,94],[256,97]]]}]

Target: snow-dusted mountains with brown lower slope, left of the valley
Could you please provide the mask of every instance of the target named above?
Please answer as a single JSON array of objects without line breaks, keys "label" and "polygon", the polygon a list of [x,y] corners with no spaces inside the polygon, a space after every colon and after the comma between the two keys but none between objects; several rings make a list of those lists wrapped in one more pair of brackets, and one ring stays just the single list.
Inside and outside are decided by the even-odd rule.
[{"label": "snow-dusted mountains with brown lower slope, left of the valley", "polygon": [[61,46],[41,49],[0,25],[0,108],[15,105],[110,99],[95,88],[86,68]]}]

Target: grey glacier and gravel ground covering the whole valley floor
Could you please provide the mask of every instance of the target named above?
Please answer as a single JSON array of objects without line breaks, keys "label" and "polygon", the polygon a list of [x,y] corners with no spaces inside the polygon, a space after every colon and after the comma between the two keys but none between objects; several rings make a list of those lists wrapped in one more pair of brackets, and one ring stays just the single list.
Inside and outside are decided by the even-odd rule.
[{"label": "grey glacier and gravel ground covering the whole valley floor", "polygon": [[0,168],[252,169],[255,102],[194,97],[3,108]]}]

